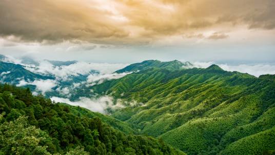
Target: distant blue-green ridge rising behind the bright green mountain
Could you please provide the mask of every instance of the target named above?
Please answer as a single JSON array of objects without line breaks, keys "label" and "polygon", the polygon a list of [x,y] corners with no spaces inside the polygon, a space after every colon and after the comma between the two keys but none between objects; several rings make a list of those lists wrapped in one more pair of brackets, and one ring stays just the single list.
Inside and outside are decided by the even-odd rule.
[{"label": "distant blue-green ridge rising behind the bright green mountain", "polygon": [[184,66],[191,66],[189,62],[182,63],[180,61],[174,60],[170,62],[161,62],[158,60],[147,60],[141,63],[131,64],[126,66],[123,69],[115,71],[115,73],[124,73],[124,72],[136,72],[141,70],[146,70],[149,68],[163,68],[163,69],[182,69]]}]

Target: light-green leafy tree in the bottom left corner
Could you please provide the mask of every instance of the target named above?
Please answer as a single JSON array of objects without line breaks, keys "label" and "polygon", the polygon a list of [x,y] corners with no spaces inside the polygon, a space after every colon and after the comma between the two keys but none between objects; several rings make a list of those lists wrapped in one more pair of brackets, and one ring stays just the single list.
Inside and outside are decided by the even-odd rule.
[{"label": "light-green leafy tree in the bottom left corner", "polygon": [[[3,119],[0,115],[0,120]],[[0,125],[0,150],[5,154],[50,154],[47,146],[40,143],[47,137],[44,131],[29,126],[27,117],[19,117],[15,121],[5,122]]]}]

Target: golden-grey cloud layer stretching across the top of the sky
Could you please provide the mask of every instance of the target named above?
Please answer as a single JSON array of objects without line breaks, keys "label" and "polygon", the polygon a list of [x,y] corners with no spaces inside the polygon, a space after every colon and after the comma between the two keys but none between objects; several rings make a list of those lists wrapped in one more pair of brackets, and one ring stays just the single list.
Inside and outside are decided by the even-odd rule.
[{"label": "golden-grey cloud layer stretching across the top of the sky", "polygon": [[275,28],[274,4],[272,0],[3,0],[0,36],[14,42],[41,44],[70,41],[144,45],[209,28],[230,29],[241,25],[247,29],[271,30]]}]

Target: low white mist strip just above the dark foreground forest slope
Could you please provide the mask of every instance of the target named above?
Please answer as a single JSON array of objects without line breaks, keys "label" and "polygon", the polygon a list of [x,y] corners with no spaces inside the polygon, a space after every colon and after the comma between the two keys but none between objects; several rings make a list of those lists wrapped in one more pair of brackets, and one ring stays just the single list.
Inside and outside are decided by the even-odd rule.
[{"label": "low white mist strip just above the dark foreground forest slope", "polygon": [[107,108],[111,108],[115,110],[115,109],[124,107],[120,102],[116,102],[116,104],[114,104],[113,102],[114,99],[111,96],[107,96],[107,95],[101,96],[100,98],[93,98],[93,99],[81,97],[78,101],[75,101],[75,102],[72,102],[69,99],[65,99],[65,98],[57,98],[55,96],[53,96],[51,100],[54,102],[67,103],[73,106],[81,106],[91,111],[100,112],[100,113],[106,113]]}]

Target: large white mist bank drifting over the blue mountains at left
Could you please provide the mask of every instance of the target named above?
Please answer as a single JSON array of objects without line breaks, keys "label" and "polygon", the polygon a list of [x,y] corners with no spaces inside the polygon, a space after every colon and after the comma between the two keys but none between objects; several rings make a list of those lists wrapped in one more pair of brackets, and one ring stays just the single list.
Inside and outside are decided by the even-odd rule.
[{"label": "large white mist bank drifting over the blue mountains at left", "polygon": [[[22,60],[14,59],[11,56],[2,56],[8,62],[18,62],[22,65]],[[53,88],[56,87],[56,93],[61,94],[62,96],[67,96],[68,98],[75,93],[74,89],[81,87],[89,87],[96,84],[101,84],[106,80],[110,79],[119,79],[127,73],[113,73],[114,71],[124,68],[127,64],[108,64],[108,63],[86,63],[86,62],[76,62],[70,65],[53,65],[51,61],[43,60],[37,61],[38,66],[35,65],[26,65],[25,69],[42,74],[55,77],[54,80],[41,80],[36,79],[34,81],[22,79],[17,79],[14,81],[16,86],[26,86],[26,85],[35,85],[36,93],[43,93],[53,91]],[[55,61],[56,62],[56,61]],[[61,64],[62,62],[59,62]],[[66,63],[63,63],[66,64]],[[68,64],[68,63],[67,63]],[[0,75],[4,76],[9,72],[3,72]],[[24,75],[23,75],[24,76]],[[4,77],[3,77],[4,78]],[[74,81],[76,80],[76,81]],[[63,83],[63,82],[67,83]],[[70,82],[70,83],[68,83]],[[69,84],[69,85],[68,85]]]}]

